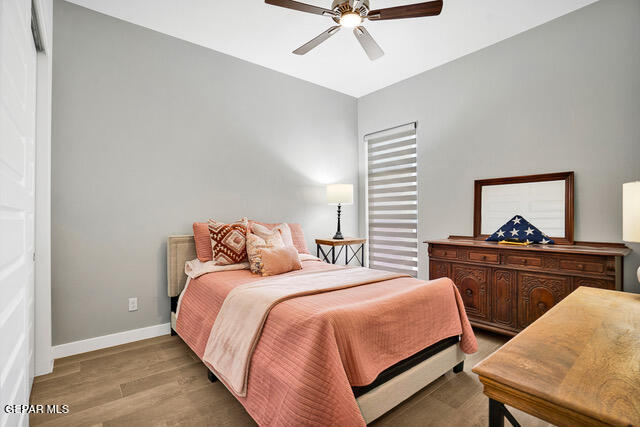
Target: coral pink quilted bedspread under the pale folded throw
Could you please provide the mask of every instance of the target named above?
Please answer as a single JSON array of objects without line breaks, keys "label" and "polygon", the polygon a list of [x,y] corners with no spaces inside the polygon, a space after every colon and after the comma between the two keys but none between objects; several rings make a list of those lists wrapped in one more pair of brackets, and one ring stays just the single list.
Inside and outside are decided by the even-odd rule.
[{"label": "coral pink quilted bedspread under the pale folded throw", "polygon": [[[303,262],[303,271],[331,268]],[[191,280],[176,329],[202,358],[211,327],[235,286],[260,280],[247,270]],[[388,367],[436,342],[461,335],[477,342],[449,279],[398,278],[287,300],[274,307],[251,360],[246,397],[260,425],[364,425],[351,386],[370,384]]]}]

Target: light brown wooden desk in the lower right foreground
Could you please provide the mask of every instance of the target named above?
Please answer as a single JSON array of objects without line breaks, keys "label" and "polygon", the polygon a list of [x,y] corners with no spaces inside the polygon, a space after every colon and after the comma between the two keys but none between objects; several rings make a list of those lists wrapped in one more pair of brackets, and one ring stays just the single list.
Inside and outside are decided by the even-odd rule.
[{"label": "light brown wooden desk in the lower right foreground", "polygon": [[638,426],[640,295],[578,288],[473,372],[490,426],[515,421],[504,404],[559,426]]}]

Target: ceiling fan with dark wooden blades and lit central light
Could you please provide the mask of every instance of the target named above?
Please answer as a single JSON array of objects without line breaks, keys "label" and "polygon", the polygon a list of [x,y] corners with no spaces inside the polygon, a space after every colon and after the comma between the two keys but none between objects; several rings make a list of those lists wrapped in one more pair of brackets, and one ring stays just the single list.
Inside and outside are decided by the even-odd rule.
[{"label": "ceiling fan with dark wooden blades and lit central light", "polygon": [[371,34],[369,34],[366,28],[362,26],[362,22],[365,19],[369,19],[370,21],[383,21],[387,19],[419,18],[422,16],[439,15],[442,11],[442,0],[376,10],[370,9],[369,0],[333,0],[331,9],[293,0],[265,0],[265,3],[301,12],[327,16],[338,24],[294,50],[293,53],[296,55],[308,53],[311,49],[317,47],[320,43],[340,31],[342,27],[346,27],[353,28],[353,34],[372,61],[382,57],[384,51],[373,37],[371,37]]}]

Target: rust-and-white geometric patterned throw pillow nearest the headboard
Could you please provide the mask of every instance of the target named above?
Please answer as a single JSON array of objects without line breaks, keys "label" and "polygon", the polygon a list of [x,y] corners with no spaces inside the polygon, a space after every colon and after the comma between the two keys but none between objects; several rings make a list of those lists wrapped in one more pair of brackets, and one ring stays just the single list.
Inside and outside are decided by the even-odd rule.
[{"label": "rust-and-white geometric patterned throw pillow nearest the headboard", "polygon": [[232,224],[209,220],[209,236],[216,265],[237,264],[247,257],[247,219]]}]

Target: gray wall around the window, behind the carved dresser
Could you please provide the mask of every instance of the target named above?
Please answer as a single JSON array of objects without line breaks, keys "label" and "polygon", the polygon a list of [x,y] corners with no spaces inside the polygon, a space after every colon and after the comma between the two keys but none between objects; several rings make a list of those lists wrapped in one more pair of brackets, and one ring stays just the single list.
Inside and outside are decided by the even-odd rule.
[{"label": "gray wall around the window, behind the carved dresser", "polygon": [[[359,99],[360,140],[418,122],[420,240],[472,234],[475,179],[573,170],[576,239],[620,242],[622,184],[640,179],[639,22],[639,1],[600,1]],[[419,265],[426,278],[426,245]]]}]

